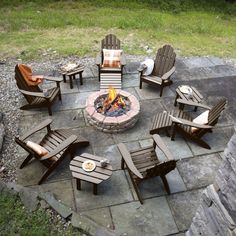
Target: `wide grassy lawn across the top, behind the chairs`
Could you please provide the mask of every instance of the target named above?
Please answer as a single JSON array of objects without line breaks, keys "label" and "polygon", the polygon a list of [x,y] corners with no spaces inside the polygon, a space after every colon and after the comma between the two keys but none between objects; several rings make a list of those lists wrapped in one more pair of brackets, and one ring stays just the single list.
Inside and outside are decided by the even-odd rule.
[{"label": "wide grassy lawn across the top, behind the chairs", "polygon": [[236,4],[225,0],[1,0],[0,57],[94,56],[116,34],[127,54],[236,57]]}]

